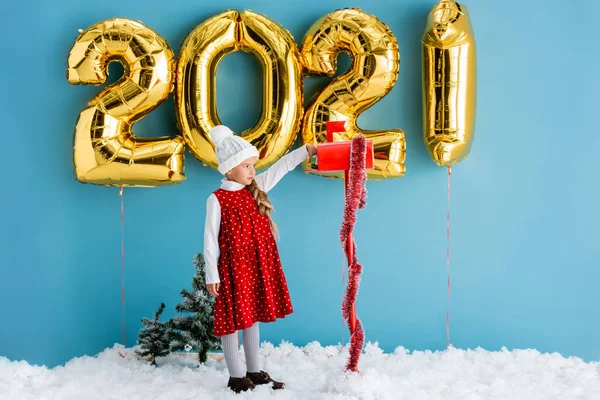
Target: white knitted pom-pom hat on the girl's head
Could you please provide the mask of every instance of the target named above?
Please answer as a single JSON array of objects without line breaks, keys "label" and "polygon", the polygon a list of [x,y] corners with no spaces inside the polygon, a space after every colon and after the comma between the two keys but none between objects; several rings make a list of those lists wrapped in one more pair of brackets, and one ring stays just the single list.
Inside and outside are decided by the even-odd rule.
[{"label": "white knitted pom-pom hat on the girl's head", "polygon": [[217,125],[208,133],[215,144],[219,172],[225,175],[250,157],[258,157],[258,150],[224,125]]}]

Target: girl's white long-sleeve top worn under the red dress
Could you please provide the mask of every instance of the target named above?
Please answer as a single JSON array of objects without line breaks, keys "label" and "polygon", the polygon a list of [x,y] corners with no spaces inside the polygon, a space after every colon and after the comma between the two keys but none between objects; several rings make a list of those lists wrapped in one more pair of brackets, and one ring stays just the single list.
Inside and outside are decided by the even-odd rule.
[{"label": "girl's white long-sleeve top worn under the red dress", "polygon": [[[265,172],[254,177],[258,187],[268,192],[291,170],[308,157],[306,146],[302,146],[281,157]],[[221,189],[241,190],[245,186],[227,178],[221,181]],[[206,221],[204,223],[204,261],[206,263],[206,284],[220,283],[217,263],[219,260],[219,231],[221,228],[221,205],[215,194],[206,201]]]}]

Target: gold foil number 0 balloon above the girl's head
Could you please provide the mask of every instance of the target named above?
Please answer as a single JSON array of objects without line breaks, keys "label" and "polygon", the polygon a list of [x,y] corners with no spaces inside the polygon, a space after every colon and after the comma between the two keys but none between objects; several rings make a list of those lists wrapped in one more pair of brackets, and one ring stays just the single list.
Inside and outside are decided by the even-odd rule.
[{"label": "gold foil number 0 balloon above the girl's head", "polygon": [[[177,117],[191,152],[217,167],[208,132],[220,125],[216,72],[227,54],[253,54],[263,71],[262,112],[242,133],[258,149],[257,169],[277,161],[293,144],[303,113],[302,70],[292,35],[252,11],[227,10],[198,25],[182,44],[177,65]],[[257,94],[258,96],[258,94]],[[235,99],[232,99],[235,104]]]}]

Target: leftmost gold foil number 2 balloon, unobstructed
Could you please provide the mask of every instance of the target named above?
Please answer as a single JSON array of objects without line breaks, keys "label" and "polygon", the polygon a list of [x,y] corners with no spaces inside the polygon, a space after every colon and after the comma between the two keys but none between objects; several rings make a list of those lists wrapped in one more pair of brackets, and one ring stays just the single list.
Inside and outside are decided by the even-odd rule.
[{"label": "leftmost gold foil number 2 balloon, unobstructed", "polygon": [[69,52],[71,84],[106,82],[111,61],[123,64],[123,77],[106,87],[79,114],[74,163],[83,183],[158,186],[181,182],[185,142],[180,136],[137,138],[133,124],[173,90],[173,52],[140,22],[115,18],[82,31]]}]

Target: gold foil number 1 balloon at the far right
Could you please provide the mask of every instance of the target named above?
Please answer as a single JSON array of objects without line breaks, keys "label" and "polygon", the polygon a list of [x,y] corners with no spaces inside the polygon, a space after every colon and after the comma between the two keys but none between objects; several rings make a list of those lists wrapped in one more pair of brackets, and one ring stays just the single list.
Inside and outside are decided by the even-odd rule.
[{"label": "gold foil number 1 balloon at the far right", "polygon": [[475,130],[476,52],[467,8],[437,3],[421,41],[425,145],[438,165],[451,167],[469,154]]}]

